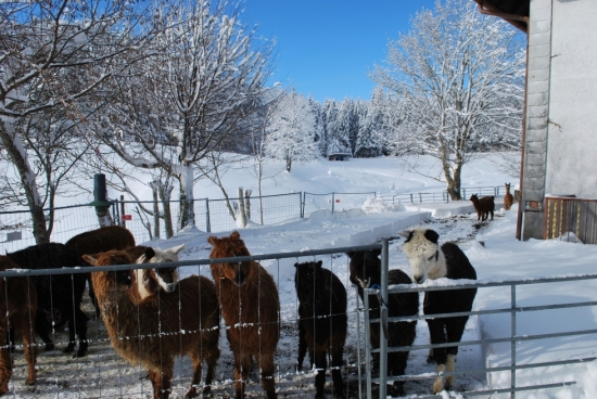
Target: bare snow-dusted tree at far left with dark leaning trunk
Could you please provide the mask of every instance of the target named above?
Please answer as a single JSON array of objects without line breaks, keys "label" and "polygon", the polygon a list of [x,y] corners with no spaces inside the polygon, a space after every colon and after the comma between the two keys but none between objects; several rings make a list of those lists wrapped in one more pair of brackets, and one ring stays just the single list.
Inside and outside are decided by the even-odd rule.
[{"label": "bare snow-dusted tree at far left with dark leaning trunk", "polygon": [[0,2],[0,141],[37,243],[50,240],[43,206],[52,205],[69,170],[55,163],[75,163],[72,153],[84,150],[65,143],[98,108],[94,96],[122,70],[115,59],[142,48],[138,10],[113,0],[101,7],[89,0]]}]

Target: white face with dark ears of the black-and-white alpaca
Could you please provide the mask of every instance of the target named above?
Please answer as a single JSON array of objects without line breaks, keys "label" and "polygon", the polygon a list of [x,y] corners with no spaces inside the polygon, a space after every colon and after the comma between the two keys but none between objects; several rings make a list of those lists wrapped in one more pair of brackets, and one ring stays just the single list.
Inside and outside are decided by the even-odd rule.
[{"label": "white face with dark ears of the black-and-white alpaca", "polygon": [[406,237],[403,250],[417,284],[446,274],[444,255],[437,244],[440,235],[436,232],[431,229],[415,229],[399,231],[398,235]]}]

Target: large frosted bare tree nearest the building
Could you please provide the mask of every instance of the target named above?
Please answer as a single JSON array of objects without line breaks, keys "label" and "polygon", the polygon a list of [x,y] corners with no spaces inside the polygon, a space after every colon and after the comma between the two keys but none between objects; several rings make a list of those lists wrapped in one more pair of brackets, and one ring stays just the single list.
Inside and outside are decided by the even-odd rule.
[{"label": "large frosted bare tree nearest the building", "polygon": [[394,94],[394,151],[437,157],[453,200],[481,144],[516,147],[521,137],[524,39],[475,5],[437,1],[417,13],[371,75]]}]

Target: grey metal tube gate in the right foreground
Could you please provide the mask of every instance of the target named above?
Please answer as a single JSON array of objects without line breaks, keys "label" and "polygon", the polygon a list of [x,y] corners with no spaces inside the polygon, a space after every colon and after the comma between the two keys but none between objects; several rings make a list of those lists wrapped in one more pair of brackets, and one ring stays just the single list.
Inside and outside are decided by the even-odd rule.
[{"label": "grey metal tube gate in the right foreground", "polygon": [[[521,364],[518,362],[517,359],[517,344],[526,343],[531,340],[538,340],[538,339],[550,339],[550,338],[558,338],[558,337],[573,337],[579,335],[587,335],[587,334],[597,334],[597,329],[590,329],[590,330],[581,330],[581,331],[566,331],[560,333],[546,333],[546,334],[520,334],[517,330],[517,316],[520,318],[521,316],[525,316],[529,312],[534,311],[543,311],[543,310],[554,310],[554,309],[569,309],[569,308],[579,308],[579,307],[592,307],[597,306],[597,301],[577,301],[577,303],[568,303],[568,304],[554,304],[554,305],[542,305],[542,306],[519,306],[517,304],[517,287],[522,285],[534,285],[534,284],[549,284],[549,283],[566,283],[566,282],[574,282],[574,281],[585,281],[585,280],[593,280],[597,281],[597,274],[590,274],[590,275],[579,275],[579,276],[562,276],[562,278],[544,278],[544,279],[534,279],[534,280],[509,280],[509,281],[501,281],[501,282],[477,282],[472,280],[459,280],[458,282],[453,281],[449,285],[442,285],[442,286],[395,286],[395,287],[389,287],[388,286],[388,268],[384,267],[383,262],[383,249],[382,249],[382,270],[385,270],[385,272],[382,271],[382,279],[381,279],[381,286],[378,289],[365,289],[364,295],[364,308],[361,309],[364,311],[364,317],[366,321],[366,325],[369,323],[380,323],[380,319],[370,319],[368,313],[369,309],[369,296],[376,295],[383,298],[384,301],[388,300],[389,294],[401,294],[401,293],[424,293],[430,291],[449,291],[449,289],[461,289],[461,288],[490,288],[490,287],[506,287],[510,291],[510,307],[508,308],[501,308],[501,309],[486,309],[486,310],[475,310],[470,312],[454,312],[454,313],[439,313],[433,314],[433,318],[448,318],[448,317],[455,317],[455,316],[484,316],[484,314],[496,314],[496,313],[509,313],[510,314],[510,336],[509,337],[503,337],[503,338],[485,338],[485,339],[478,339],[478,340],[462,340],[460,343],[447,343],[447,344],[434,344],[434,345],[412,345],[412,346],[402,346],[402,347],[388,347],[388,338],[384,335],[384,325],[383,323],[388,322],[398,322],[398,321],[412,321],[412,320],[425,320],[427,317],[423,314],[419,314],[417,317],[393,317],[393,318],[381,318],[380,323],[380,348],[379,349],[372,349],[369,342],[366,344],[366,359],[369,359],[371,353],[379,352],[380,353],[380,370],[386,370],[386,356],[389,351],[405,351],[405,350],[428,350],[430,348],[442,348],[442,347],[453,347],[453,346],[484,346],[490,344],[499,344],[499,343],[509,343],[510,344],[510,364],[509,365],[501,365],[501,366],[487,366],[487,368],[478,368],[478,369],[466,369],[466,370],[457,370],[454,372],[444,372],[443,376],[450,376],[450,375],[462,375],[462,374],[471,374],[471,373],[486,373],[490,375],[491,373],[496,372],[510,372],[510,386],[509,387],[497,387],[497,388],[491,388],[491,389],[484,389],[484,390],[477,390],[477,391],[462,391],[458,392],[465,398],[468,397],[478,397],[483,395],[497,395],[497,394],[510,394],[511,398],[516,397],[517,392],[521,391],[529,391],[529,390],[538,390],[538,389],[548,389],[548,388],[559,388],[562,386],[570,386],[576,384],[575,381],[562,381],[559,383],[549,383],[549,384],[533,384],[533,385],[525,385],[525,386],[519,386],[517,384],[517,371],[522,370],[529,370],[529,369],[536,369],[536,368],[548,368],[554,365],[566,365],[566,364],[576,364],[576,363],[583,363],[583,362],[590,362],[594,360],[597,360],[595,357],[590,358],[572,358],[572,359],[560,359],[557,361],[549,361],[549,362],[536,362],[536,363],[525,363]],[[384,278],[385,274],[385,278]],[[478,294],[479,295],[479,294]],[[519,320],[520,321],[520,320]],[[385,325],[386,327],[386,325]],[[365,327],[366,335],[368,333],[368,329]],[[367,366],[367,398],[372,398],[372,385],[378,384],[379,385],[379,398],[385,398],[386,397],[386,384],[389,381],[409,381],[409,379],[433,379],[437,375],[433,373],[433,375],[430,375],[429,373],[425,373],[424,375],[404,375],[404,376],[388,376],[386,373],[380,372],[379,377],[373,378],[371,376],[371,368],[369,365],[369,362],[366,362]],[[491,381],[491,377],[487,378]],[[430,384],[431,386],[431,384]],[[359,398],[360,398],[359,392]],[[417,396],[417,398],[439,398],[441,395],[429,395],[429,396]]]}]

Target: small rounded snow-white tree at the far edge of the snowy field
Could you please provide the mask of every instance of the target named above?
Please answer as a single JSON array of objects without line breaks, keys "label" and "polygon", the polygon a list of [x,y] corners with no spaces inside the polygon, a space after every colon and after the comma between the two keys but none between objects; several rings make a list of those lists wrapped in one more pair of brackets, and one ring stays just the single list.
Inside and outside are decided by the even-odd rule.
[{"label": "small rounded snow-white tree at the far edge of the snowy field", "polygon": [[314,114],[305,98],[294,90],[276,102],[267,130],[266,154],[284,159],[287,171],[291,171],[293,162],[307,162],[319,156],[314,140]]}]

